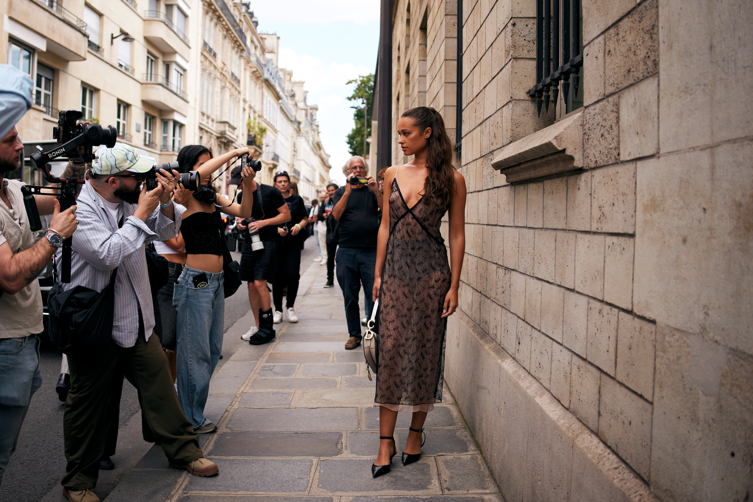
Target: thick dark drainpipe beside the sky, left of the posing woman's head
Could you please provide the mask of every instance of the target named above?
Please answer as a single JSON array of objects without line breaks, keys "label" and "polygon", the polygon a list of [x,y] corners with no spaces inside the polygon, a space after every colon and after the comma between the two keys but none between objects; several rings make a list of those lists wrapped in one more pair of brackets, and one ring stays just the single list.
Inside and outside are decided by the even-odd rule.
[{"label": "thick dark drainpipe beside the sky, left of the posing woman's head", "polygon": [[377,88],[377,165],[373,166],[374,173],[392,166],[392,0],[382,0],[381,5]]}]

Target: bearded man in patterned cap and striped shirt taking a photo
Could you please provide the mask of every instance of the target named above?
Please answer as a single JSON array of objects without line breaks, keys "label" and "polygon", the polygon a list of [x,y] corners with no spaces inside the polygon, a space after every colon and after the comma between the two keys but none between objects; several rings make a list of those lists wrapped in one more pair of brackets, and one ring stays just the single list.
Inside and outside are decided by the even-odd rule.
[{"label": "bearded man in patterned cap and striped shirt taking a photo", "polygon": [[139,391],[148,430],[145,439],[162,446],[171,467],[196,476],[218,473],[206,460],[191,421],[183,414],[160,340],[153,335],[154,311],[145,244],[175,237],[185,208],[172,202],[177,171],[157,173],[157,188],[142,178],[154,167],[128,145],[100,147],[89,181],[78,196],[77,233],[72,241],[71,282],[102,291],[117,267],[110,345],[69,351],[71,390],[63,413],[66,473],[63,493],[75,502],[95,502],[99,461],[105,449],[108,387],[119,365]]}]

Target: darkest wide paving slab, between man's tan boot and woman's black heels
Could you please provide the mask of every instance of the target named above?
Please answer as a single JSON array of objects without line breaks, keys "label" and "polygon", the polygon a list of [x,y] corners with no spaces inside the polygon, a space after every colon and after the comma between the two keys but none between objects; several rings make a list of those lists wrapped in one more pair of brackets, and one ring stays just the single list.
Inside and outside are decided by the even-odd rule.
[{"label": "darkest wide paving slab, between man's tan boot and woman's black heels", "polygon": [[342,452],[340,432],[226,432],[212,449],[212,458],[335,457]]}]

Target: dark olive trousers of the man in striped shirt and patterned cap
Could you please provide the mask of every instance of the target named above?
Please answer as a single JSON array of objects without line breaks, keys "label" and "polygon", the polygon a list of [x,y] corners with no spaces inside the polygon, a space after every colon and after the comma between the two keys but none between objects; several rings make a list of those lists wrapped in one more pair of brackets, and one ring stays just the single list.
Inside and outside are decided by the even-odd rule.
[{"label": "dark olive trousers of the man in striped shirt and patterned cap", "polygon": [[157,336],[147,341],[143,328],[136,345],[123,348],[111,342],[68,354],[71,391],[62,418],[66,473],[61,485],[69,490],[96,487],[99,460],[105,454],[108,400],[117,366],[139,392],[143,421],[162,446],[168,461],[187,464],[204,456],[199,437],[185,418],[172,385],[167,359]]}]

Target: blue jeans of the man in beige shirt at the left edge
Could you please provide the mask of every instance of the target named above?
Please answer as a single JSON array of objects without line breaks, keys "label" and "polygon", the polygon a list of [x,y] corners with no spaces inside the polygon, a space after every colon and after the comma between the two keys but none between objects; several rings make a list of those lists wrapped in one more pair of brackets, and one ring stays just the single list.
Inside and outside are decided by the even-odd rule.
[{"label": "blue jeans of the man in beige shirt at the left edge", "polygon": [[0,483],[8,459],[16,451],[29,403],[41,385],[39,337],[0,339]]}]

